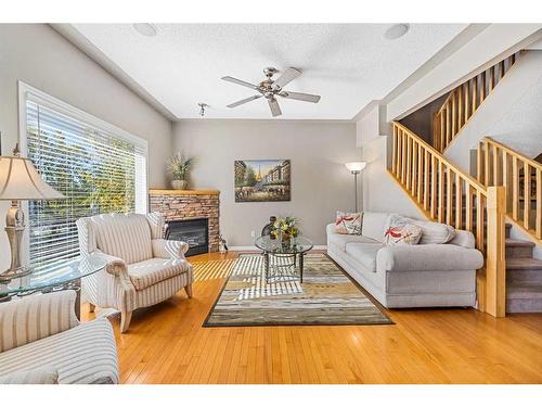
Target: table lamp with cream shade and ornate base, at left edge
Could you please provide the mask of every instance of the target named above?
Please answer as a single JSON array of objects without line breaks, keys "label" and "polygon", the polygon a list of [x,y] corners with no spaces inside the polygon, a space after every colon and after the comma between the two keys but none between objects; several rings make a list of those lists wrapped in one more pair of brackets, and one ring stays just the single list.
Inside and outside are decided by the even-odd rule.
[{"label": "table lamp with cream shade and ornate base, at left edge", "polygon": [[29,275],[31,271],[21,265],[21,246],[25,231],[25,215],[20,207],[21,200],[59,200],[62,193],[48,186],[29,158],[20,156],[18,144],[13,156],[0,156],[0,201],[11,201],[5,216],[5,232],[11,246],[11,266],[0,274],[0,282]]}]

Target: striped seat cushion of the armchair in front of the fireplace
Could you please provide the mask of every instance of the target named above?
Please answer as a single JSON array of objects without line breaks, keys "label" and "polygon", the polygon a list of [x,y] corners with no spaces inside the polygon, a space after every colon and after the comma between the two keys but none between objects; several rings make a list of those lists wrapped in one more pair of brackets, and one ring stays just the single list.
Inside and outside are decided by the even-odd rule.
[{"label": "striped seat cushion of the armchair in front of the fireplace", "polygon": [[128,265],[128,276],[136,290],[144,290],[171,277],[182,275],[190,268],[185,259],[150,258]]}]

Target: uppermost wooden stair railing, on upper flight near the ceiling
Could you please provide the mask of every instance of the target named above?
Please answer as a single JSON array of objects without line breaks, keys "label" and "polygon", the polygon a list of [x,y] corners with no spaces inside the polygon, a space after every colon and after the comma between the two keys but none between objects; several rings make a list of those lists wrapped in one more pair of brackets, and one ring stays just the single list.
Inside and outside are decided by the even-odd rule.
[{"label": "uppermost wooden stair railing, on upper flight near the ceiling", "polygon": [[480,104],[514,65],[519,53],[487,68],[453,89],[433,116],[433,145],[443,152]]}]

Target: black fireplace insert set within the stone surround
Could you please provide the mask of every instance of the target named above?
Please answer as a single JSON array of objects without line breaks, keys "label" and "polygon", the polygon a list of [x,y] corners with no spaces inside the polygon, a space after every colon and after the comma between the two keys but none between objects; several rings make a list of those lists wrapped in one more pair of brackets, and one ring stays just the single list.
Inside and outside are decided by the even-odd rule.
[{"label": "black fireplace insert set within the stone surround", "polygon": [[209,251],[209,219],[192,218],[169,220],[167,222],[166,239],[182,240],[189,243],[185,256],[207,253]]}]

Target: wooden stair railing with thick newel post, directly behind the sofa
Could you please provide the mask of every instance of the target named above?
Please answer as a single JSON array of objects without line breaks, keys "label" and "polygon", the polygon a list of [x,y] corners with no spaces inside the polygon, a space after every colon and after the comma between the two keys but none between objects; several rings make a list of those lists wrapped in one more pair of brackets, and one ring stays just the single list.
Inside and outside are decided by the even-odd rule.
[{"label": "wooden stair railing with thick newel post, directly behind the sofa", "polygon": [[390,173],[427,218],[474,233],[486,258],[477,272],[478,308],[504,316],[504,188],[485,187],[397,122]]}]

